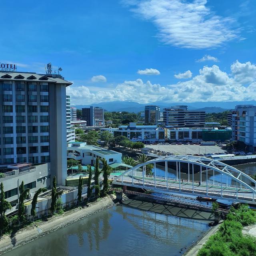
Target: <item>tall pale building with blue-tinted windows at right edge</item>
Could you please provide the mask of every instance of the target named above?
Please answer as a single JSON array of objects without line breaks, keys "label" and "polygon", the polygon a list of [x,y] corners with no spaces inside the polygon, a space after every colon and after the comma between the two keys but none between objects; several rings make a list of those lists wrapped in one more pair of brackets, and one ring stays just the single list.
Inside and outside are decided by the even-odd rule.
[{"label": "tall pale building with blue-tinted windows at right edge", "polygon": [[232,139],[244,142],[256,151],[256,106],[237,105],[232,111]]}]

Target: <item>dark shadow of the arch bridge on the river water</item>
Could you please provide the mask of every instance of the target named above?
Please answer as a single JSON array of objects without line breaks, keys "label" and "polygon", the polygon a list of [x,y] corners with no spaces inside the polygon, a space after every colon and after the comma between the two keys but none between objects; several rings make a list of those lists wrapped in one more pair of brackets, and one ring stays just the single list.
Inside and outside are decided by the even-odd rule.
[{"label": "dark shadow of the arch bridge on the river water", "polygon": [[186,208],[180,208],[176,206],[159,204],[155,202],[148,202],[142,200],[135,199],[126,199],[123,204],[125,206],[137,208],[140,210],[156,212],[159,214],[172,215],[181,218],[189,218],[194,220],[206,220],[212,221],[214,220],[214,214],[212,212],[202,212],[199,210],[192,210]]}]

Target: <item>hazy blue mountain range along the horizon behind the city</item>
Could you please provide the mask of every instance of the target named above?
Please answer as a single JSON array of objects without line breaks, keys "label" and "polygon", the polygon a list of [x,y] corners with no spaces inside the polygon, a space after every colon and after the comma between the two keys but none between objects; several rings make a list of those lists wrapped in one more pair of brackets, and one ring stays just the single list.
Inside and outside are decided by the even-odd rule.
[{"label": "hazy blue mountain range along the horizon behind the city", "polygon": [[[71,102],[72,104],[72,102]],[[106,111],[127,111],[127,112],[141,112],[144,111],[146,105],[157,105],[160,106],[161,111],[164,108],[176,105],[187,105],[190,110],[201,110],[206,113],[217,113],[223,112],[225,110],[233,109],[239,104],[253,104],[256,105],[255,100],[251,101],[230,101],[230,102],[177,102],[177,103],[165,103],[165,102],[152,102],[151,104],[140,104],[138,102],[132,101],[112,101],[112,102],[100,102],[90,105],[74,105],[77,109],[89,108],[90,106],[98,106],[104,108]]]}]

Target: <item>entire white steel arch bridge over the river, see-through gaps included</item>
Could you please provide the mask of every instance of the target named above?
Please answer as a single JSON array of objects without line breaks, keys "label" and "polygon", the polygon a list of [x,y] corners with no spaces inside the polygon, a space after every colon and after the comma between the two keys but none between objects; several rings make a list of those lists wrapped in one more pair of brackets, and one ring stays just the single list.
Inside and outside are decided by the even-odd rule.
[{"label": "entire white steel arch bridge over the river, see-through gaps included", "polygon": [[[147,171],[148,164],[151,164]],[[256,204],[256,181],[217,160],[191,155],[163,156],[138,164],[112,184]]]}]

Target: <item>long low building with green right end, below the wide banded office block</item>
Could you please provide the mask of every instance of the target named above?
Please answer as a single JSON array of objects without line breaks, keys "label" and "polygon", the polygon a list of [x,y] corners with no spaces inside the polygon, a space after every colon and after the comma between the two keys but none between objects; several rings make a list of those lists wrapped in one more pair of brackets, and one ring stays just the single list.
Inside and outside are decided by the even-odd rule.
[{"label": "long low building with green right end, below the wide banded office block", "polygon": [[166,128],[166,135],[171,141],[225,141],[232,137],[231,128]]}]

